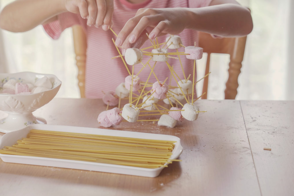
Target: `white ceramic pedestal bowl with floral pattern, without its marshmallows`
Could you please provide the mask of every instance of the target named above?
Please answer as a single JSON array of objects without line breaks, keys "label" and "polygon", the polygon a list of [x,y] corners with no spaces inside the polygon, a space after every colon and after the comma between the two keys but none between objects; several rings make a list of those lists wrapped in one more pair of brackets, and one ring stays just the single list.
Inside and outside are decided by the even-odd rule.
[{"label": "white ceramic pedestal bowl with floral pattern, without its marshmallows", "polygon": [[51,101],[59,91],[61,81],[52,74],[33,72],[1,73],[0,89],[9,79],[15,79],[19,83],[34,84],[36,80],[47,76],[52,83],[52,88],[33,94],[0,94],[0,132],[8,133],[22,129],[30,124],[43,123],[46,120],[35,117],[32,112]]}]

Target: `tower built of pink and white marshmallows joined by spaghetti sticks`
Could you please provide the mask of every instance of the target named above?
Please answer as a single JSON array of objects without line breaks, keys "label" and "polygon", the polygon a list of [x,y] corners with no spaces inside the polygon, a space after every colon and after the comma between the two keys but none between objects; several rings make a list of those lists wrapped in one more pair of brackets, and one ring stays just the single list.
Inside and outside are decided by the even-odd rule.
[{"label": "tower built of pink and white marshmallows joined by spaghetti sticks", "polygon": [[[116,35],[116,33],[111,29]],[[146,36],[148,34],[146,33]],[[112,38],[115,45],[114,39]],[[158,121],[158,125],[167,127],[174,127],[177,121],[196,120],[198,114],[201,112],[195,105],[195,101],[200,97],[194,99],[196,93],[195,86],[198,81],[195,81],[195,68],[196,60],[202,58],[203,48],[194,46],[185,47],[181,41],[180,36],[171,35],[166,38],[166,42],[158,43],[157,38],[151,42],[151,46],[148,48],[128,48],[123,56],[119,48],[115,45],[118,56],[113,58],[121,58],[125,65],[129,76],[117,86],[114,91],[104,93],[103,102],[107,105],[106,111],[103,111],[98,116],[98,122],[100,126],[110,127],[112,125],[118,125],[121,121],[136,122],[136,121]],[[178,51],[179,48],[185,48],[185,51]],[[146,51],[151,48],[150,51]],[[168,52],[168,49],[176,49],[176,52]],[[190,80],[191,74],[186,77],[181,62],[181,55],[185,55],[186,58],[194,61],[193,64],[193,76]],[[149,56],[147,62],[143,61],[143,56]],[[169,58],[175,58],[179,60],[179,65],[170,65],[168,63]],[[170,80],[174,79],[177,86],[171,86],[167,84],[168,78],[164,81],[159,81],[156,73],[153,71],[157,62],[165,62],[170,71]],[[132,70],[128,69],[128,65],[132,66]],[[134,66],[142,66],[141,70],[134,75]],[[181,66],[183,77],[180,78],[174,71],[174,66]],[[146,81],[140,80],[140,73],[143,69],[150,69],[148,78]],[[153,75],[156,78],[156,82],[150,83],[149,79]],[[207,77],[204,76],[203,78]],[[203,79],[201,78],[201,79]],[[200,79],[200,80],[201,80]],[[199,81],[200,81],[199,80]],[[150,89],[151,90],[147,90]],[[204,93],[203,93],[204,94]],[[128,99],[128,103],[121,105],[122,99]],[[168,104],[164,107],[160,103]],[[116,106],[111,110],[108,110],[109,106]],[[160,115],[159,119],[146,120],[140,119],[140,116],[155,116]]]}]

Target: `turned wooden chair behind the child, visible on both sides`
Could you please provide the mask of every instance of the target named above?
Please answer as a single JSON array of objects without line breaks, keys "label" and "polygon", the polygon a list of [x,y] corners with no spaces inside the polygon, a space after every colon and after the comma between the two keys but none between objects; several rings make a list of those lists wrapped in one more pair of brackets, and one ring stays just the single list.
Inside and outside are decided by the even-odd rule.
[{"label": "turned wooden chair behind the child, visible on both sides", "polygon": [[[73,26],[74,49],[76,53],[76,65],[78,66],[78,86],[80,88],[81,98],[85,97],[85,69],[86,69],[86,34],[81,26]],[[243,55],[245,50],[246,36],[240,38],[212,38],[208,33],[200,33],[199,46],[206,52],[206,70],[209,72],[211,53],[225,53],[230,55],[229,77],[226,82],[225,99],[235,99],[238,88],[238,76],[242,67]],[[208,77],[203,82],[203,93],[208,89]],[[207,93],[202,99],[207,98]]]}]

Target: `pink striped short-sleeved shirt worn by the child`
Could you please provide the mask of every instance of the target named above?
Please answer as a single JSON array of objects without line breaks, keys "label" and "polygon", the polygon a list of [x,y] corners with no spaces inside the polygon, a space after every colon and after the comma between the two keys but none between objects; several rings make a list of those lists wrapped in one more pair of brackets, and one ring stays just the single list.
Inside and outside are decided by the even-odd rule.
[{"label": "pink striped short-sleeved shirt worn by the child", "polygon": [[[114,13],[113,13],[113,30],[116,33],[123,28],[128,19],[135,16],[136,11],[139,8],[173,8],[173,7],[189,7],[198,8],[209,6],[212,0],[146,0],[140,4],[132,4],[127,0],[114,0]],[[114,91],[115,88],[122,82],[128,72],[123,65],[121,58],[111,59],[113,56],[117,56],[118,52],[111,40],[116,38],[113,33],[104,31],[102,28],[96,28],[94,26],[87,26],[86,19],[82,19],[79,14],[73,14],[70,12],[62,13],[58,15],[58,20],[44,25],[45,31],[53,39],[59,38],[64,29],[73,25],[79,24],[83,26],[87,34],[87,59],[86,59],[86,81],[85,81],[85,94],[87,98],[101,98],[104,92]],[[169,35],[158,37],[158,42],[163,43]],[[179,34],[184,46],[194,45],[194,42],[198,43],[198,32],[191,29],[185,29]],[[151,46],[150,41],[146,41],[142,48]],[[183,48],[179,48],[179,51],[184,51]],[[175,51],[169,49],[169,51]],[[149,56],[144,56],[143,63],[147,62]],[[181,61],[184,67],[185,75],[193,75],[193,60],[187,59],[185,56],[181,56]],[[178,59],[169,58],[168,63],[174,67],[179,77],[183,79],[183,72]],[[151,61],[151,66],[153,65]],[[141,64],[134,66],[134,73],[138,73],[142,68]],[[132,66],[129,66],[129,70],[132,70]],[[165,78],[170,78],[171,73],[166,66],[165,62],[158,62],[154,68],[156,76],[160,81],[164,81]],[[146,67],[138,75],[141,81],[146,81],[150,73],[150,68]],[[151,75],[150,82],[155,82],[156,78]],[[175,85],[174,78],[171,78],[172,85]]]}]

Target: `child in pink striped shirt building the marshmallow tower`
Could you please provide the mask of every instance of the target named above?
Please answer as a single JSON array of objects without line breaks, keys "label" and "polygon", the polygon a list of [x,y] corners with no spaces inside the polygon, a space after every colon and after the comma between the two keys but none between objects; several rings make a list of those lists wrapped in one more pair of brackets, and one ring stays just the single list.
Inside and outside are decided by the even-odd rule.
[{"label": "child in pink striped shirt building the marshmallow tower", "polygon": [[[111,38],[124,53],[129,47],[151,46],[150,41],[146,41],[146,33],[150,39],[159,36],[159,43],[165,41],[167,33],[178,34],[183,45],[191,46],[194,41],[198,43],[198,31],[216,36],[245,36],[253,26],[250,11],[235,0],[17,0],[7,5],[0,15],[0,27],[8,31],[23,32],[39,24],[43,24],[54,39],[70,26],[83,26],[88,47],[87,98],[101,98],[102,91],[114,91],[128,76],[121,59],[111,59],[118,55]],[[110,27],[118,33],[117,38],[108,30]],[[145,56],[143,63],[149,58]],[[193,75],[193,61],[185,56],[181,61],[186,76]],[[179,61],[169,59],[168,62],[183,79]],[[153,65],[152,61],[150,64]],[[141,68],[141,64],[135,65],[134,73]],[[165,62],[158,62],[154,71],[160,81],[170,77]],[[149,73],[147,66],[139,77],[146,81]],[[156,81],[153,75],[150,81]]]}]

